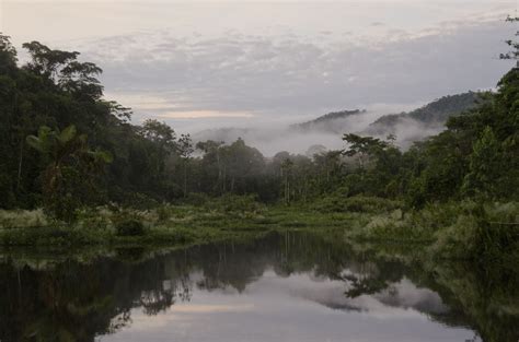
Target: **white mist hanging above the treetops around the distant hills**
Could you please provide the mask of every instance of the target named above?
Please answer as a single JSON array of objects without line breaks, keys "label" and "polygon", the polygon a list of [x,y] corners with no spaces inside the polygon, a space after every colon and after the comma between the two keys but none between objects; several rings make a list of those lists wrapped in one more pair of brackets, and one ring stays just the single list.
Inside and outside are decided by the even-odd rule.
[{"label": "white mist hanging above the treetops around the distant hills", "polygon": [[[408,111],[422,105],[422,103],[400,105],[376,104],[367,106],[367,109],[364,111],[347,118],[330,120],[326,122],[326,127],[314,127],[305,130],[298,129],[295,125],[316,119],[319,115],[301,116],[298,118],[287,116],[264,122],[242,120],[235,126],[201,130],[197,130],[196,126],[192,126],[184,127],[182,131],[187,132],[186,128],[191,129],[189,133],[195,142],[214,140],[229,144],[241,138],[247,145],[256,148],[266,157],[272,157],[281,151],[293,154],[307,154],[312,145],[323,145],[327,150],[344,149],[342,137],[346,133],[358,133],[385,139],[387,134],[376,134],[370,131],[369,128],[372,122],[384,115]],[[399,146],[407,149],[413,141],[434,135],[442,129],[441,125],[427,126],[413,119],[406,119],[391,133],[396,135]]]}]

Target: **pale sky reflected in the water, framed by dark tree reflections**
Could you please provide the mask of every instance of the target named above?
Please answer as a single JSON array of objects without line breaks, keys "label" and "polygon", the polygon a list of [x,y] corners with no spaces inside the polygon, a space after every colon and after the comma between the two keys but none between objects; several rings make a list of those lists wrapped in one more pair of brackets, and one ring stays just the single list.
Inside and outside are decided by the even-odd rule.
[{"label": "pale sky reflected in the water, framed by dark tree reflections", "polygon": [[[345,270],[345,273],[349,273]],[[199,271],[189,274],[203,282]],[[169,288],[165,281],[164,287]],[[201,288],[200,288],[201,287]],[[431,321],[449,308],[407,278],[373,295],[348,298],[344,281],[313,271],[276,274],[272,267],[239,292],[194,286],[189,300],[157,316],[140,308],[132,323],[101,341],[465,341],[474,333]]]}]

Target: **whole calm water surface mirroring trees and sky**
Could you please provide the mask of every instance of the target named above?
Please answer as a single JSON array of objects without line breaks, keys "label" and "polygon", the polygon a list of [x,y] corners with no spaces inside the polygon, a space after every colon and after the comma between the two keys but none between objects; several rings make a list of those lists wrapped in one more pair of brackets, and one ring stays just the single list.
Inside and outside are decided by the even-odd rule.
[{"label": "whole calm water surface mirroring trees and sky", "polygon": [[295,233],[154,256],[4,252],[0,341],[517,341],[507,286],[395,260]]}]

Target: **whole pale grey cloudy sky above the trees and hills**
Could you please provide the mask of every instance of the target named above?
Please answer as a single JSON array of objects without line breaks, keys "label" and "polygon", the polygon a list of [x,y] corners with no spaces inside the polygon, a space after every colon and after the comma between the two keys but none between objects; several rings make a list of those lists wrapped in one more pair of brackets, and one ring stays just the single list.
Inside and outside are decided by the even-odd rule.
[{"label": "whole pale grey cloudy sky above the trees and hills", "polygon": [[[517,1],[9,1],[0,31],[82,52],[106,96],[180,131],[280,126],[491,89]],[[21,59],[24,56],[21,54]]]}]

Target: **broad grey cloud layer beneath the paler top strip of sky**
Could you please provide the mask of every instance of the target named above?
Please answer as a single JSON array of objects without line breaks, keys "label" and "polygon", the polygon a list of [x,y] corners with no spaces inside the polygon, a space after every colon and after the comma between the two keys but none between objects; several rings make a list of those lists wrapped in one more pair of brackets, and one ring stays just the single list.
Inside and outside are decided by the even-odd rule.
[{"label": "broad grey cloud layer beneath the paler top strip of sky", "polygon": [[385,39],[365,44],[335,35],[322,46],[291,34],[161,32],[107,37],[82,50],[105,70],[109,95],[123,104],[131,98],[139,115],[232,119],[254,113],[269,120],[493,87],[510,67],[496,57],[511,33],[497,21],[458,22],[412,34],[389,28]]}]

